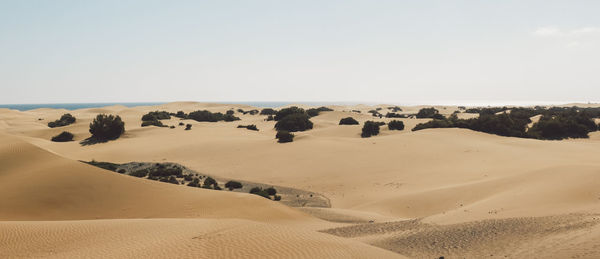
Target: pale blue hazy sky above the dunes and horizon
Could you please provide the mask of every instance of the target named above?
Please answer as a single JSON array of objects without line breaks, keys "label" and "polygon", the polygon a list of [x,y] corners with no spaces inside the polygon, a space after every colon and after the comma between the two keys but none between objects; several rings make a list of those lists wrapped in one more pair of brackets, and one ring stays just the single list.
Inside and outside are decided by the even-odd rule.
[{"label": "pale blue hazy sky above the dunes and horizon", "polygon": [[600,1],[0,0],[0,103],[600,102]]}]

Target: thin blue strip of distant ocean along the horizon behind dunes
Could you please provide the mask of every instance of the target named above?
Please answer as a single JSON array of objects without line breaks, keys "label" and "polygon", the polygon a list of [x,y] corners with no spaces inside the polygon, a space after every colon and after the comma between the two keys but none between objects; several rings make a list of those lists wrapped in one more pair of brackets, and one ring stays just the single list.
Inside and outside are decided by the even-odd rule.
[{"label": "thin blue strip of distant ocean along the horizon behind dunes", "polygon": [[[352,105],[357,103],[343,103],[343,102],[215,102],[223,104],[245,104],[259,108],[277,108],[288,104],[306,104],[306,105]],[[164,102],[148,102],[148,103],[39,103],[39,104],[0,104],[0,108],[8,108],[19,111],[28,111],[39,108],[52,108],[52,109],[66,109],[66,110],[77,110],[86,108],[100,108],[112,105],[123,105],[126,107],[136,106],[153,106],[165,104]]]}]

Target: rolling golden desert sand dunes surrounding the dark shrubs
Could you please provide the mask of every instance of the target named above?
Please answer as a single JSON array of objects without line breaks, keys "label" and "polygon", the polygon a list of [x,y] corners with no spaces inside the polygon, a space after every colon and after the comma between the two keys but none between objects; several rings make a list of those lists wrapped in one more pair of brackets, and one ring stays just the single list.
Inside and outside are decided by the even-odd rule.
[{"label": "rolling golden desert sand dunes surrounding the dark shrubs", "polygon": [[[361,138],[364,121],[391,119],[374,119],[373,106],[329,107],[335,111],[313,117],[314,129],[286,144],[276,142],[274,122],[263,115],[183,120],[190,131],[140,126],[149,111],[255,109],[245,105],[0,109],[0,257],[600,257],[599,132],[543,141],[466,129],[412,132],[427,119],[400,119],[403,131],[383,127]],[[75,124],[46,126],[67,112]],[[81,145],[98,113],[120,115],[126,133]],[[361,125],[338,125],[348,116]],[[75,141],[50,141],[65,130]],[[78,160],[175,162],[319,193],[331,208],[139,179]]]}]

